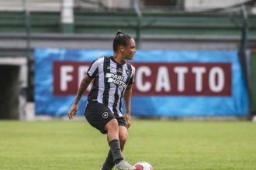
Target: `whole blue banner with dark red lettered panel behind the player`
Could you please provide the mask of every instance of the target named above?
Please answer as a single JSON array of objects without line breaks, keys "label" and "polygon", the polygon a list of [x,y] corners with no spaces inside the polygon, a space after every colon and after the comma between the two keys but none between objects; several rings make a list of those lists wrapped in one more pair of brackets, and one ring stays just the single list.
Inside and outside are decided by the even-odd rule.
[{"label": "whole blue banner with dark red lettered panel behind the player", "polygon": [[[112,50],[36,49],[36,114],[63,116],[93,60]],[[236,50],[138,50],[132,114],[145,117],[246,116],[248,95]],[[79,103],[83,114],[87,97]]]}]

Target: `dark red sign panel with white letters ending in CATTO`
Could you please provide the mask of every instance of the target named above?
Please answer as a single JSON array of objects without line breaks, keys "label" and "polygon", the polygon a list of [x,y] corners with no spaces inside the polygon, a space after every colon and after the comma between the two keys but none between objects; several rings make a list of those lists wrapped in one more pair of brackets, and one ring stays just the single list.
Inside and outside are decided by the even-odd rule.
[{"label": "dark red sign panel with white letters ending in CATTO", "polygon": [[[76,94],[90,64],[55,61],[54,95]],[[231,63],[133,63],[133,66],[135,96],[231,95]]]}]

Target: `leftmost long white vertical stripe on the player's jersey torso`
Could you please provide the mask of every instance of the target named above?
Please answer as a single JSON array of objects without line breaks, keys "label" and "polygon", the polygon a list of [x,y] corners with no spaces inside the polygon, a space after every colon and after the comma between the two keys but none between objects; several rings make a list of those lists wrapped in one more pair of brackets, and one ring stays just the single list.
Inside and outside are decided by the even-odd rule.
[{"label": "leftmost long white vertical stripe on the player's jersey torso", "polygon": [[104,65],[104,57],[98,59],[98,64],[99,64],[99,91],[98,91],[98,97],[97,100],[99,103],[103,103],[103,92],[105,89],[105,85],[104,85],[104,69],[103,69],[103,65]]}]

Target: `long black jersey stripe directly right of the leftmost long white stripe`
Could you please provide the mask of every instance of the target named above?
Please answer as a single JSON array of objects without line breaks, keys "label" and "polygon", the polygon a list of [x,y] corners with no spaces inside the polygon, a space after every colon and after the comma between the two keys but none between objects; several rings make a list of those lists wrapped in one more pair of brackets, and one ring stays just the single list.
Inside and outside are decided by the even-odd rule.
[{"label": "long black jersey stripe directly right of the leftmost long white stripe", "polygon": [[102,103],[106,106],[109,104],[109,90],[110,90],[110,83],[108,83],[108,79],[106,79],[106,73],[110,72],[108,70],[110,68],[110,57],[105,57],[104,58],[104,63],[103,63],[103,74],[104,74],[104,92],[103,92],[103,99]]}]

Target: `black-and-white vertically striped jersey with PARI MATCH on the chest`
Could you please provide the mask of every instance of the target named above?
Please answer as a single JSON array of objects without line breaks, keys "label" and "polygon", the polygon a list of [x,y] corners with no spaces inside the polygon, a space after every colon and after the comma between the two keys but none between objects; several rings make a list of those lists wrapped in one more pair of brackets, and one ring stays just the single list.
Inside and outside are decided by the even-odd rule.
[{"label": "black-and-white vertically striped jersey with PARI MATCH on the chest", "polygon": [[112,56],[105,56],[96,59],[87,74],[95,79],[88,102],[98,101],[109,107],[112,113],[123,117],[123,93],[127,85],[134,82],[135,68],[130,63],[119,64]]}]

